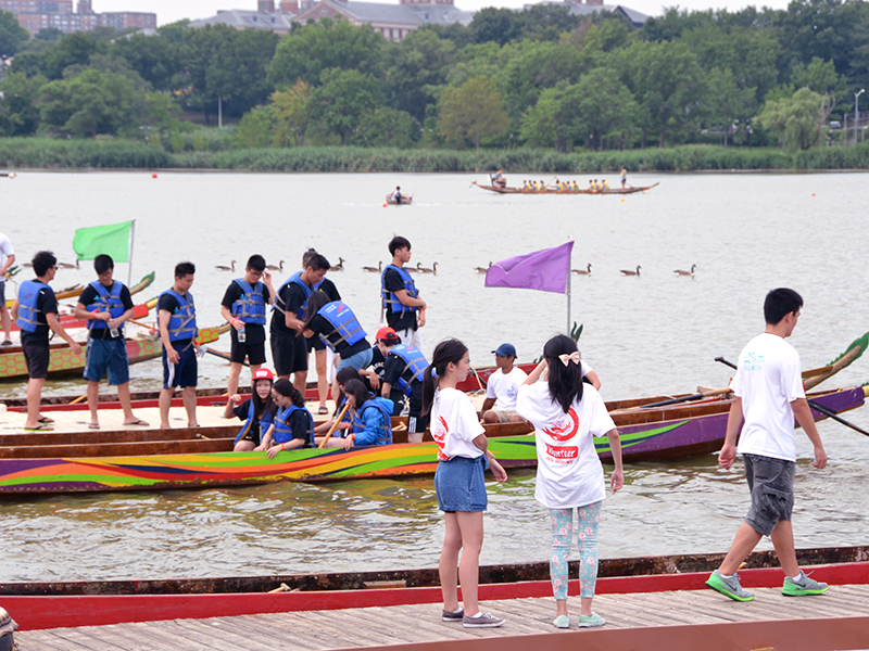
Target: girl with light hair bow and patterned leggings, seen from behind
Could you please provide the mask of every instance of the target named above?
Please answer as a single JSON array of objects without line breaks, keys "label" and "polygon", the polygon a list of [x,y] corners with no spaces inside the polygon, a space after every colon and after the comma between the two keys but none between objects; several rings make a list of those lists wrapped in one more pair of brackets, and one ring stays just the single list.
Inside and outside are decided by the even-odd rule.
[{"label": "girl with light hair bow and patterned leggings, seen from behind", "polygon": [[[538,379],[546,373],[546,382]],[[582,365],[577,343],[558,335],[543,347],[543,361],[519,387],[516,411],[534,425],[537,443],[537,487],[534,498],[550,509],[552,557],[550,574],[555,595],[557,628],[569,628],[567,614],[567,554],[570,551],[574,509],[580,550],[579,627],[603,626],[603,617],[592,612],[597,580],[597,524],[601,502],[606,497],[604,470],[594,448],[594,436],[606,434],[613,450],[615,470],[613,493],[621,488],[621,444],[618,430],[606,411],[601,395],[582,382]]]}]

